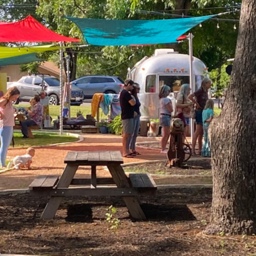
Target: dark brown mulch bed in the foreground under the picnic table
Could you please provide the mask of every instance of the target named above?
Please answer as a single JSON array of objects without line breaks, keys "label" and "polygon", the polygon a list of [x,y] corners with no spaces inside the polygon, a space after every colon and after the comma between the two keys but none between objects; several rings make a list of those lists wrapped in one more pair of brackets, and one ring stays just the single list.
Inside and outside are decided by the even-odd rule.
[{"label": "dark brown mulch bed in the foreground under the picnic table", "polygon": [[[147,221],[134,221],[119,197],[65,199],[52,221],[40,219],[47,198],[1,196],[1,253],[37,255],[254,255],[255,237],[205,236],[210,189],[159,190],[142,197]],[[107,208],[120,221],[111,230]]]}]

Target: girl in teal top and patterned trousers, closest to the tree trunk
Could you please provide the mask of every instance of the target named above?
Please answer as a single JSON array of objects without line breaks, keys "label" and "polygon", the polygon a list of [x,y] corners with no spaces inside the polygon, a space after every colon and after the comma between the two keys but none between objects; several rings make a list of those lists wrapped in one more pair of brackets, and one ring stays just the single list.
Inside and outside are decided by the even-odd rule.
[{"label": "girl in teal top and patterned trousers, closest to the tree trunk", "polygon": [[212,118],[214,118],[214,101],[213,100],[206,101],[206,104],[202,113],[202,118],[203,118],[203,137],[204,137],[202,156],[210,157],[210,142],[208,140],[208,128]]}]

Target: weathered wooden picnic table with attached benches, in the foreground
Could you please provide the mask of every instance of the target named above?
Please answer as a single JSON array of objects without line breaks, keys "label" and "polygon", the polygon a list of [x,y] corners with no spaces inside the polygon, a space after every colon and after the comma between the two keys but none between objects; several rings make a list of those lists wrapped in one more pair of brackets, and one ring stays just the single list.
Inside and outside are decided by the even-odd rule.
[{"label": "weathered wooden picnic table with attached benches, in the foreground", "polygon": [[[155,194],[156,184],[149,174],[130,174],[128,178],[120,151],[70,151],[64,162],[60,177],[40,175],[29,185],[33,195],[50,196],[42,219],[53,219],[65,196],[121,196],[133,218],[146,219],[138,196]],[[108,167],[110,178],[97,178],[99,165]],[[74,178],[79,166],[91,166],[90,179]]]}]

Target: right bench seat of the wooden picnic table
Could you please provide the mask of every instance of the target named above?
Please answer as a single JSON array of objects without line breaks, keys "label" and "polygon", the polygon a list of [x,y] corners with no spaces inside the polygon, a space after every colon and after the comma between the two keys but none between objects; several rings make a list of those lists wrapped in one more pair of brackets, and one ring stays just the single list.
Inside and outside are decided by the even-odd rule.
[{"label": "right bench seat of the wooden picnic table", "polygon": [[132,187],[143,195],[152,195],[156,193],[157,186],[150,174],[130,174],[130,183]]}]

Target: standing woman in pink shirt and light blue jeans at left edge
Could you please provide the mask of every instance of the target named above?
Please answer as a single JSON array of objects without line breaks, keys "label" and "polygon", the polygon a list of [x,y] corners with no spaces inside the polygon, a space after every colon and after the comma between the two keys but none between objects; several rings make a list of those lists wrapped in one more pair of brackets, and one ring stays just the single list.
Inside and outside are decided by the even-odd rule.
[{"label": "standing woman in pink shirt and light blue jeans at left edge", "polygon": [[6,155],[13,137],[14,109],[13,101],[20,97],[17,87],[10,88],[0,99],[0,163],[1,168],[6,167]]}]

